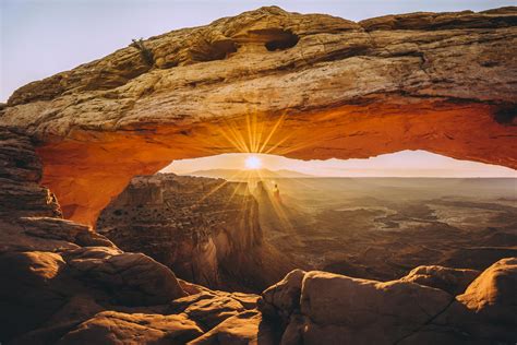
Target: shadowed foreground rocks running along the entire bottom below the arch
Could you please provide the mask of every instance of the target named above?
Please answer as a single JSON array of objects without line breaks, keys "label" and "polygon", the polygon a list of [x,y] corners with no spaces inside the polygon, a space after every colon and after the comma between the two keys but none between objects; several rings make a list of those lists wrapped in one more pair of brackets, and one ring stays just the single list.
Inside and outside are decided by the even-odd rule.
[{"label": "shadowed foreground rocks running along the entire bottom below the arch", "polygon": [[[8,141],[10,145],[4,145]],[[0,155],[28,166],[29,142],[10,132]],[[8,147],[8,148],[5,148]],[[12,150],[12,147],[16,147]],[[24,150],[24,148],[27,148]],[[20,152],[17,152],[20,150]],[[33,152],[34,154],[34,152]],[[37,183],[40,170],[10,177]],[[419,267],[382,283],[300,270],[258,296],[176,278],[142,253],[123,252],[89,227],[32,212],[0,215],[0,341],[12,344],[513,344],[516,258],[466,283],[465,270]],[[23,204],[27,194],[15,194]],[[57,210],[57,209],[50,209]],[[470,272],[469,274],[474,274]],[[470,277],[469,277],[470,279]],[[419,284],[412,283],[419,282]],[[426,286],[430,285],[430,286]],[[456,297],[450,292],[467,288]],[[456,293],[454,293],[456,295]],[[258,300],[257,300],[258,299]],[[258,305],[258,309],[257,309]]]}]

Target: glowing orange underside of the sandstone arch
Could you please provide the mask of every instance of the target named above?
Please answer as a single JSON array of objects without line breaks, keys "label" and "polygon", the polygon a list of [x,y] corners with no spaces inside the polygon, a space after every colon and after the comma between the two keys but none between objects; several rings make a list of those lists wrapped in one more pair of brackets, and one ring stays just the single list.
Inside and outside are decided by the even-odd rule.
[{"label": "glowing orange underside of the sandstone arch", "polygon": [[56,193],[64,216],[93,225],[133,176],[154,174],[176,159],[221,153],[346,159],[424,150],[515,168],[515,127],[495,121],[496,110],[495,105],[429,99],[304,111],[249,109],[195,122],[73,130],[64,139],[49,138],[37,152],[44,165],[41,183]]}]

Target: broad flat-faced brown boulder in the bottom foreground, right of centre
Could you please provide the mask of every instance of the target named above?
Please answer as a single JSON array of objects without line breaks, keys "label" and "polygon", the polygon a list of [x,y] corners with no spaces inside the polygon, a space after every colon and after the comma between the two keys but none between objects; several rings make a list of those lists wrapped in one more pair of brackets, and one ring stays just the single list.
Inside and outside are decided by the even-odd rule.
[{"label": "broad flat-faced brown boulder in the bottom foreground, right of centre", "polygon": [[325,272],[303,278],[308,343],[395,343],[444,310],[453,297],[412,283],[356,279]]}]

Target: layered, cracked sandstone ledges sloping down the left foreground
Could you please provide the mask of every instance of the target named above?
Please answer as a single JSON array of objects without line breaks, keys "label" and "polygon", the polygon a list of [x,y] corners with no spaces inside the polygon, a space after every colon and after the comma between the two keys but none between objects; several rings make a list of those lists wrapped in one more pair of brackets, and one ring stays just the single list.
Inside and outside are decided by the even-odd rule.
[{"label": "layered, cracked sandstone ledges sloping down the left foreground", "polygon": [[0,216],[0,342],[184,344],[227,318],[258,314],[256,295],[180,281],[149,257],[60,218],[57,200],[40,198],[51,194],[38,186],[41,166],[31,139],[3,133],[0,193],[11,195],[12,211]]}]

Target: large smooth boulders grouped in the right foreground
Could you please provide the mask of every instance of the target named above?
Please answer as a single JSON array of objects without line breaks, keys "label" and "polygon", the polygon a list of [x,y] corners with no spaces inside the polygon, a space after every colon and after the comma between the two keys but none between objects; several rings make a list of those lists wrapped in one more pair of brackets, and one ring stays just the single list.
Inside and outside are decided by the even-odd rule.
[{"label": "large smooth boulders grouped in the right foreground", "polygon": [[258,309],[285,324],[281,344],[512,344],[515,262],[494,263],[457,297],[405,278],[293,271],[262,294]]}]

